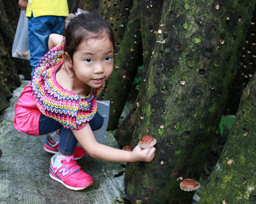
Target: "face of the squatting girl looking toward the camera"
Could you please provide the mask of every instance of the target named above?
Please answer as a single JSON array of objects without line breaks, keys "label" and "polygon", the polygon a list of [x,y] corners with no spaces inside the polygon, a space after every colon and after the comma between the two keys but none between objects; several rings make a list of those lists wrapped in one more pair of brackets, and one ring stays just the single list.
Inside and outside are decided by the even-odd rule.
[{"label": "face of the squatting girl looking toward the camera", "polygon": [[[105,35],[79,45],[68,67],[75,72],[76,85],[80,88],[99,88],[113,71],[114,48]],[[89,86],[89,87],[88,87]]]}]

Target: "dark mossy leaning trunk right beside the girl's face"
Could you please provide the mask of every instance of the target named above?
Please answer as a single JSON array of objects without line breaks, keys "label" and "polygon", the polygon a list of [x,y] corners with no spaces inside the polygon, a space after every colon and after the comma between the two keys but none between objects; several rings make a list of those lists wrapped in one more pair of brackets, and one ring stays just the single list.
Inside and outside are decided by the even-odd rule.
[{"label": "dark mossy leaning trunk right beside the girl's face", "polygon": [[110,100],[110,120],[108,129],[114,130],[122,114],[130,89],[137,73],[137,68],[142,65],[142,38],[140,33],[140,5],[133,2],[129,22],[122,44],[114,58],[113,74],[107,84],[104,94],[105,100]]}]

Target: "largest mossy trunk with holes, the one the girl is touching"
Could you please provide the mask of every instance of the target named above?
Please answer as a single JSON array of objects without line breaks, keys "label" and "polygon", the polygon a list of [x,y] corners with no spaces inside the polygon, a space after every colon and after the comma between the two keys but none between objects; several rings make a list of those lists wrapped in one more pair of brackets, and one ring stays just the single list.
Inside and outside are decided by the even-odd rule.
[{"label": "largest mossy trunk with holes, the one the girl is touching", "polygon": [[156,154],[151,162],[126,165],[133,203],[191,202],[194,192],[182,191],[177,180],[200,178],[254,4],[165,2],[132,139],[134,147],[142,136],[153,136]]}]

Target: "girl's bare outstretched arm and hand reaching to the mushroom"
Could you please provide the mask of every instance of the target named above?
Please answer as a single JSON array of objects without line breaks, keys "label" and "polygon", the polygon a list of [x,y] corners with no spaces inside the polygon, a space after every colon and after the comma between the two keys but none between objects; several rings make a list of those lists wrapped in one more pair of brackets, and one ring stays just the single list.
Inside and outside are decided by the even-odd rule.
[{"label": "girl's bare outstretched arm and hand reaching to the mushroom", "polygon": [[89,123],[81,130],[72,130],[81,146],[93,158],[117,162],[149,162],[154,158],[156,148],[142,149],[136,146],[133,151],[124,151],[97,143]]}]

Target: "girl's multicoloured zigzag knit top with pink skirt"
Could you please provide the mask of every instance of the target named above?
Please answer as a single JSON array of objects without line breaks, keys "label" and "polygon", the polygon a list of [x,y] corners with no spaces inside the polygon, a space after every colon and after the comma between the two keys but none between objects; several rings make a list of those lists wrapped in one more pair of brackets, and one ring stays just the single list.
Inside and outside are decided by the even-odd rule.
[{"label": "girl's multicoloured zigzag knit top with pink skirt", "polygon": [[92,88],[87,96],[79,96],[63,89],[56,81],[56,72],[63,64],[64,44],[65,40],[39,61],[31,83],[25,87],[16,103],[14,127],[19,132],[39,136],[41,113],[73,130],[83,129],[95,116],[96,99],[105,84]]}]

